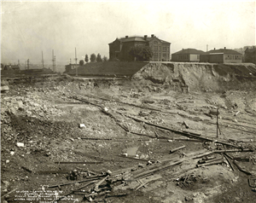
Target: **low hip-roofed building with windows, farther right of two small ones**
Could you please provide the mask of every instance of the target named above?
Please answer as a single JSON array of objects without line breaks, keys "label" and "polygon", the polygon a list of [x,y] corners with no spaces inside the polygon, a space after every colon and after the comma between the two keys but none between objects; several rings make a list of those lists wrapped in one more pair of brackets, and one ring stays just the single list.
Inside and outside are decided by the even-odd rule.
[{"label": "low hip-roofed building with windows, farther right of two small ones", "polygon": [[241,53],[233,49],[212,49],[200,55],[200,62],[209,63],[241,63]]}]

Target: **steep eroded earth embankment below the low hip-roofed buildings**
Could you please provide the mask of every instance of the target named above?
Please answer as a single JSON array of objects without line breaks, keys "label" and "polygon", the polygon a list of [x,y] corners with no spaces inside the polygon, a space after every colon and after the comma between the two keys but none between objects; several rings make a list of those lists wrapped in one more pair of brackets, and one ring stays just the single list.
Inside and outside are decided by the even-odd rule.
[{"label": "steep eroded earth embankment below the low hip-roofed buildings", "polygon": [[254,64],[209,64],[182,62],[151,62],[132,77],[148,84],[165,87],[189,87],[189,90],[255,90]]}]

